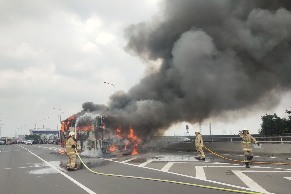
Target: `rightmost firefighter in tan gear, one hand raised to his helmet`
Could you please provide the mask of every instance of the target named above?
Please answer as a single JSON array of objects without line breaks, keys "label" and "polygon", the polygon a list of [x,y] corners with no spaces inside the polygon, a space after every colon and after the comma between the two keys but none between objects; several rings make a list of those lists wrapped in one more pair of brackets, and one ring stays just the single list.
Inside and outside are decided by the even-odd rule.
[{"label": "rightmost firefighter in tan gear, one hand raised to his helmet", "polygon": [[239,131],[239,139],[242,140],[242,152],[244,154],[244,163],[246,164],[246,168],[250,168],[249,161],[253,159],[253,149],[251,143],[257,145],[260,145],[260,143],[249,134],[249,130],[247,128],[244,128],[242,131]]}]

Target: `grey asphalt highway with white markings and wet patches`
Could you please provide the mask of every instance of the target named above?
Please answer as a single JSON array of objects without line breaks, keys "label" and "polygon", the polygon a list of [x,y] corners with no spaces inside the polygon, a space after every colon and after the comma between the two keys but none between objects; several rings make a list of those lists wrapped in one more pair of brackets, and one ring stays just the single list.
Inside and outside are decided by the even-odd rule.
[{"label": "grey asphalt highway with white markings and wet patches", "polygon": [[[56,145],[0,145],[1,193],[233,193],[210,188],[142,179],[96,175],[77,159],[79,170],[66,170],[68,156]],[[221,153],[229,154],[229,153]],[[121,157],[81,156],[96,172],[166,179],[213,187],[262,193],[290,193],[290,165],[252,165],[221,159],[206,153],[197,161],[195,152],[152,150]],[[239,153],[223,155],[243,159]],[[255,153],[254,153],[255,155]],[[255,156],[254,161],[290,163],[290,156]],[[276,185],[276,186],[275,186]]]}]

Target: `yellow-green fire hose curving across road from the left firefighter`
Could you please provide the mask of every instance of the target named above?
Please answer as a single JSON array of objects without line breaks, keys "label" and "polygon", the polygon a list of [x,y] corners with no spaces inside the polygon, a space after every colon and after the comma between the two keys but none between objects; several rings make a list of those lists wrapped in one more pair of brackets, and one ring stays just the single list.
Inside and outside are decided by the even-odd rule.
[{"label": "yellow-green fire hose curving across road from the left firefighter", "polygon": [[97,175],[107,175],[107,176],[113,176],[113,177],[126,177],[126,178],[134,178],[134,179],[144,179],[144,180],[152,180],[152,181],[161,181],[161,182],[168,182],[168,183],[176,183],[176,184],[183,184],[183,185],[190,185],[190,186],[197,186],[197,187],[203,187],[203,188],[211,188],[211,189],[217,189],[217,190],[222,190],[222,191],[232,191],[232,192],[237,192],[237,193],[248,193],[248,194],[265,194],[265,193],[256,193],[256,192],[249,192],[249,191],[240,191],[240,190],[234,190],[234,189],[227,189],[227,188],[220,188],[220,187],[212,187],[212,186],[206,186],[206,185],[198,185],[198,184],[193,184],[193,183],[184,183],[184,182],[179,182],[179,181],[170,181],[170,180],[163,180],[163,179],[152,179],[152,178],[146,178],[146,177],[133,177],[133,176],[125,176],[125,175],[112,175],[112,174],[105,174],[105,173],[100,173],[100,172],[95,172],[88,168],[82,159],[80,158],[77,149],[75,148],[75,151],[81,161],[81,163],[91,172],[97,174]]}]

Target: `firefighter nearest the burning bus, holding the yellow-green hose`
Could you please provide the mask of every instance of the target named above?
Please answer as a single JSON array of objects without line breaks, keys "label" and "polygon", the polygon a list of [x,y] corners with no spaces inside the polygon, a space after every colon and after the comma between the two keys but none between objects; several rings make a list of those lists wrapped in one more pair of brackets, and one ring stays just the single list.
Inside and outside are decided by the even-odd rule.
[{"label": "firefighter nearest the burning bus, holding the yellow-green hose", "polygon": [[67,169],[68,170],[77,170],[77,168],[75,168],[75,163],[76,163],[76,154],[75,154],[75,132],[71,131],[69,133],[69,137],[66,140],[66,151],[68,154],[68,165],[67,165]]}]

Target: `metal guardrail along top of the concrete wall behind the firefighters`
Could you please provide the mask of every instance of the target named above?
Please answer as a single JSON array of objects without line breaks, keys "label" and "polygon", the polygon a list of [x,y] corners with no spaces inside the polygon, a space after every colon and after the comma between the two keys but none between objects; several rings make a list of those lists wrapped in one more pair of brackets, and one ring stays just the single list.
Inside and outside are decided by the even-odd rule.
[{"label": "metal guardrail along top of the concrete wall behind the firefighters", "polygon": [[[230,139],[230,141],[213,141],[213,139]],[[290,143],[291,141],[283,141],[283,138],[291,138],[291,136],[271,136],[271,137],[254,137],[256,139],[258,138],[281,138],[281,141],[259,141],[261,142],[267,142],[267,143],[278,143],[280,142],[281,144],[283,143]],[[185,140],[187,139],[187,136],[182,136],[181,138],[175,137],[175,138],[171,138],[171,137],[165,137],[165,138],[161,138],[157,141],[157,142],[190,142],[190,140]],[[189,138],[189,139],[194,139],[194,138]],[[238,142],[240,143],[241,141],[233,141],[233,139],[239,139],[239,137],[213,137],[213,138],[203,138],[204,142]],[[210,140],[211,139],[211,140]]]}]

